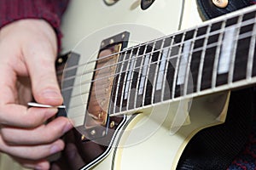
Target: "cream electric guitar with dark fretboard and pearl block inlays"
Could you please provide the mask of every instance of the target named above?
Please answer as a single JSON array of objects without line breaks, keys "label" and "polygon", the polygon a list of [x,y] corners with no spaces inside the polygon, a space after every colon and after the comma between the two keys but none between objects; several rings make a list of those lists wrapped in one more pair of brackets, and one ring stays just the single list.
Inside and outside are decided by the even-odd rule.
[{"label": "cream electric guitar with dark fretboard and pearl block inlays", "polygon": [[148,2],[67,9],[71,52],[56,65],[74,128],[61,169],[175,169],[196,133],[225,121],[230,90],[256,82],[256,6],[178,31],[195,2]]}]

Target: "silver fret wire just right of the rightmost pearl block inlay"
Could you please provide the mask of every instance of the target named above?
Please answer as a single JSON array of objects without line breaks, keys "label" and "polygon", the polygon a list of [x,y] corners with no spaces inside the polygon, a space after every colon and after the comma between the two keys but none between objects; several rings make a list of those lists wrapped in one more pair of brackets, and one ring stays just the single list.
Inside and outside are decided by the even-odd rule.
[{"label": "silver fret wire just right of the rightmost pearl block inlay", "polygon": [[228,83],[232,83],[233,81],[233,75],[234,75],[234,69],[235,69],[235,59],[236,59],[236,48],[237,48],[237,42],[238,42],[238,38],[239,38],[239,32],[240,32],[240,28],[241,28],[241,21],[242,21],[242,16],[240,15],[238,18],[238,24],[236,25],[237,27],[237,31],[236,31],[236,38],[235,38],[235,43],[234,44],[234,48],[233,48],[233,54],[232,54],[232,58],[230,60],[230,72],[229,72],[229,77],[228,77]]}]

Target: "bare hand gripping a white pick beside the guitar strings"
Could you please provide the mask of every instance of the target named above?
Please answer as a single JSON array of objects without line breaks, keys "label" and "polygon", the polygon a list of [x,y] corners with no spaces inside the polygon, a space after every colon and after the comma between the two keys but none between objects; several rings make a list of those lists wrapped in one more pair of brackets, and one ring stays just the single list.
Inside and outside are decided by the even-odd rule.
[{"label": "bare hand gripping a white pick beside the guitar strings", "polygon": [[0,30],[0,151],[24,167],[49,169],[45,157],[63,150],[61,135],[72,128],[65,117],[45,124],[56,109],[27,108],[32,97],[61,105],[55,77],[55,31],[44,20],[19,20]]}]

